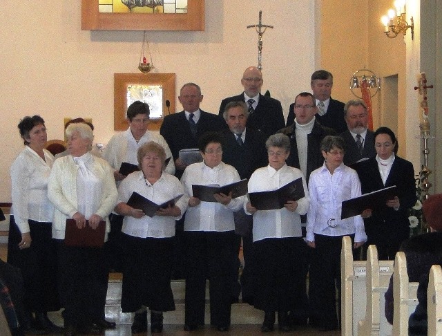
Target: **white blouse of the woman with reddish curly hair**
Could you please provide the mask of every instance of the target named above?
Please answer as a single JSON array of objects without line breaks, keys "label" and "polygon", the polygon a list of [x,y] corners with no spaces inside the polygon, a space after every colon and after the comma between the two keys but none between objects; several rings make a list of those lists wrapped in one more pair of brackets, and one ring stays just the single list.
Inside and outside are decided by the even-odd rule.
[{"label": "white blouse of the woman with reddish curly hair", "polygon": [[180,180],[171,174],[163,172],[160,179],[151,185],[144,178],[142,171],[135,171],[122,180],[122,183],[119,185],[117,204],[127,203],[133,192],[137,192],[156,204],[162,204],[183,194],[175,203],[180,208],[181,215],[177,217],[153,216],[152,218],[149,216],[143,216],[142,218],[124,216],[122,232],[140,238],[167,238],[174,236],[175,220],[182,217],[189,201],[189,197],[184,195],[184,188]]}]

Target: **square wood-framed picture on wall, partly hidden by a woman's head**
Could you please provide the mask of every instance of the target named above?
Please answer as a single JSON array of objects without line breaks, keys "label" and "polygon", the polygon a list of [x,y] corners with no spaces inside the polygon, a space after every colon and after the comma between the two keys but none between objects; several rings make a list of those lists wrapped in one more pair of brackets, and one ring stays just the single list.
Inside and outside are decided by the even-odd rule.
[{"label": "square wood-framed picture on wall, partly hidden by a woman's head", "polygon": [[127,108],[137,100],[149,106],[148,129],[160,129],[164,116],[175,113],[175,73],[115,73],[115,131],[127,129]]}]

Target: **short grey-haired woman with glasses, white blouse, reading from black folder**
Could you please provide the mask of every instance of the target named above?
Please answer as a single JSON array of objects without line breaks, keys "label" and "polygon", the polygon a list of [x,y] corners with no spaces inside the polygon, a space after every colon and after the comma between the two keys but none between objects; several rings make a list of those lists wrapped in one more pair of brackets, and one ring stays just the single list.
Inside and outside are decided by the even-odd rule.
[{"label": "short grey-haired woman with glasses, white blouse, reading from black folder", "polygon": [[263,332],[273,330],[275,312],[281,331],[291,330],[288,312],[301,297],[302,268],[305,268],[305,248],[302,241],[300,215],[309,209],[310,198],[302,172],[286,165],[290,153],[289,137],[282,133],[266,141],[269,165],[257,169],[250,177],[249,192],[277,190],[287,183],[302,178],[305,196],[289,200],[281,209],[257,210],[249,201],[244,203],[248,214],[253,214],[253,251],[255,252],[256,308],[265,311]]}]

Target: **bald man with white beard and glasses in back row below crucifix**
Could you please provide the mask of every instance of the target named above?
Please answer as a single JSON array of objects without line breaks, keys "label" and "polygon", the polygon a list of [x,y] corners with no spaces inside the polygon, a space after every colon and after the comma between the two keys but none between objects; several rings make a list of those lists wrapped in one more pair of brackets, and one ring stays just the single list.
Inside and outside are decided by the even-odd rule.
[{"label": "bald man with white beard and glasses in back row below crucifix", "polygon": [[279,100],[262,95],[262,73],[256,66],[250,66],[242,74],[241,84],[244,92],[240,95],[228,97],[222,100],[219,115],[224,113],[227,103],[245,102],[250,113],[247,119],[247,127],[259,129],[267,138],[278,129],[284,127],[284,113]]}]

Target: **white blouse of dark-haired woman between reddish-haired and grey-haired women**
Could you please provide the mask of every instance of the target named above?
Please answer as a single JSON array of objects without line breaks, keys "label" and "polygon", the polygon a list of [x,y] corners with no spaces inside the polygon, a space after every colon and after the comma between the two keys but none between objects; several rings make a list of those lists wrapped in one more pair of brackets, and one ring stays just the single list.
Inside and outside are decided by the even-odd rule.
[{"label": "white blouse of dark-haired woman between reddish-haired and grey-haired women", "polygon": [[[228,185],[240,181],[240,174],[231,165],[221,162],[216,167],[208,167],[203,162],[189,165],[184,170],[181,183],[187,196],[193,196],[192,185]],[[231,231],[235,230],[233,212],[241,209],[246,196],[233,198],[228,205],[218,202],[201,202],[189,207],[184,220],[184,231]]]}]

